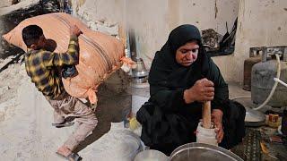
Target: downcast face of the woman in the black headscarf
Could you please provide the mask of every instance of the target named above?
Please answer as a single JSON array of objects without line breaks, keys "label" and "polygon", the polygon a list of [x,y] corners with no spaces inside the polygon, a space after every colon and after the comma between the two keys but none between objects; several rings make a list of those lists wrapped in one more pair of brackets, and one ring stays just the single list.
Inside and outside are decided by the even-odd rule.
[{"label": "downcast face of the woman in the black headscarf", "polygon": [[187,44],[179,47],[176,52],[176,60],[178,64],[189,66],[193,64],[198,55],[199,46],[196,41],[187,42]]}]

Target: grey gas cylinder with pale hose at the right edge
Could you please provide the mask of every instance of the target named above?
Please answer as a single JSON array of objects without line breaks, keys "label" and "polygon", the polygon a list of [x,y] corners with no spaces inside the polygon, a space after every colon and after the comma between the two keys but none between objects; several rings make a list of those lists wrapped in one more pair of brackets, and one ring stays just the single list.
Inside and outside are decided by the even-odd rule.
[{"label": "grey gas cylinder with pale hose at the right edge", "polygon": [[[273,52],[275,54],[275,52]],[[281,52],[280,80],[287,82],[287,47]],[[274,86],[274,78],[277,74],[277,61],[275,58],[267,60],[267,52],[263,52],[262,62],[255,64],[251,72],[251,99],[255,104],[262,104]],[[287,106],[287,88],[278,83],[273,97],[267,103],[268,106]]]}]

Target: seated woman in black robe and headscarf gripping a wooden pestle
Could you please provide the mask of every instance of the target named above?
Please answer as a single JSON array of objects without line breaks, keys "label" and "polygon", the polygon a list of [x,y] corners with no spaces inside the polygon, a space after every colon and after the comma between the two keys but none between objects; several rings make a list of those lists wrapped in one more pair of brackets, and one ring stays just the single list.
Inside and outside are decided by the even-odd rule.
[{"label": "seated woman in black robe and headscarf gripping a wooden pestle", "polygon": [[237,145],[245,134],[245,108],[229,100],[228,85],[210,56],[199,30],[181,25],[170,32],[152,61],[151,97],[137,112],[146,146],[167,155],[180,145],[196,141],[202,103],[212,102],[216,139],[223,148]]}]

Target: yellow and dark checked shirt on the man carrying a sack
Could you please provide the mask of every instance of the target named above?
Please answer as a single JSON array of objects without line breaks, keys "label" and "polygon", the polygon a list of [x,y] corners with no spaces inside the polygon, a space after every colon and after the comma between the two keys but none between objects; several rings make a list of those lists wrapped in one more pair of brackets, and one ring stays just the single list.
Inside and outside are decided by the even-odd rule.
[{"label": "yellow and dark checked shirt on the man carrying a sack", "polygon": [[25,68],[35,86],[49,98],[56,98],[65,91],[58,68],[78,64],[78,38],[71,36],[65,53],[49,52],[45,49],[30,50],[25,55]]}]

